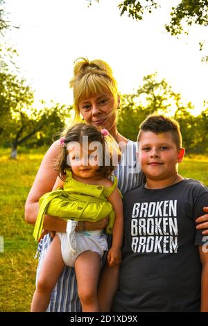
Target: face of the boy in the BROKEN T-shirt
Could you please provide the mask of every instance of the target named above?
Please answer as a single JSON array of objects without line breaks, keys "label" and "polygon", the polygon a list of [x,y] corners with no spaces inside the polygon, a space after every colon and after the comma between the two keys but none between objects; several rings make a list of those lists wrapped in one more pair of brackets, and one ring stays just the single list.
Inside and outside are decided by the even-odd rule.
[{"label": "face of the boy in the BROKEN T-shirt", "polygon": [[182,162],[184,148],[177,149],[171,132],[155,134],[142,131],[141,169],[147,178],[164,180],[177,173],[177,163]]}]

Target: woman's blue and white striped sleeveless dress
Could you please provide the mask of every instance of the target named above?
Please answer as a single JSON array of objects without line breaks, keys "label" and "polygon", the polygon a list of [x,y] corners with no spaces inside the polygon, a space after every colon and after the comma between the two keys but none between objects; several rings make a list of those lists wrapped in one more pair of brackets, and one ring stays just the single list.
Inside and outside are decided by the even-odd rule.
[{"label": "woman's blue and white striped sleeveless dress", "polygon": [[[118,179],[118,187],[121,194],[135,189],[144,183],[144,174],[141,172],[139,162],[136,156],[137,143],[128,141],[125,151],[122,154],[121,161],[114,175]],[[37,278],[42,266],[42,261],[46,250],[52,241],[50,234],[46,234],[39,244],[40,258],[37,267]],[[78,312],[81,311],[81,304],[78,298],[77,282],[74,268],[64,267],[53,292],[51,293],[51,302],[47,309],[49,312]]]}]

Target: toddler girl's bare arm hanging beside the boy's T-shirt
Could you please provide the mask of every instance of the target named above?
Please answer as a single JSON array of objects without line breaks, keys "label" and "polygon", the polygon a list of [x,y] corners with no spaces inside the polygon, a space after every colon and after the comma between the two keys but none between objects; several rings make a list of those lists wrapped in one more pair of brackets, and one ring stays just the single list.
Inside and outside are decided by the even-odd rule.
[{"label": "toddler girl's bare arm hanging beside the boy's T-shirt", "polygon": [[[110,197],[107,198],[107,200],[109,200],[112,204],[115,213],[114,227],[112,231],[112,247],[110,250],[117,251],[121,250],[121,246],[123,243],[123,203],[119,189],[114,189],[114,191],[112,192]],[[111,261],[112,259],[110,259],[112,265],[119,264],[121,262],[121,255],[117,259],[119,259],[119,261],[116,262],[113,262]]]}]

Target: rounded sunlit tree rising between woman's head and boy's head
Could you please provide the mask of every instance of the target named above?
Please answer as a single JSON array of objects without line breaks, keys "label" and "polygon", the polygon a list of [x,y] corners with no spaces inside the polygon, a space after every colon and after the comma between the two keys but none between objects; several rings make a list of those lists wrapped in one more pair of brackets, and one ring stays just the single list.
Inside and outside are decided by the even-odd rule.
[{"label": "rounded sunlit tree rising between woman's head and boy's head", "polygon": [[121,96],[119,130],[125,137],[133,140],[136,140],[139,125],[148,114],[158,112],[170,115],[171,108],[176,105],[177,94],[166,80],[157,80],[157,74],[145,76],[143,80],[143,85],[139,86],[135,94]]}]

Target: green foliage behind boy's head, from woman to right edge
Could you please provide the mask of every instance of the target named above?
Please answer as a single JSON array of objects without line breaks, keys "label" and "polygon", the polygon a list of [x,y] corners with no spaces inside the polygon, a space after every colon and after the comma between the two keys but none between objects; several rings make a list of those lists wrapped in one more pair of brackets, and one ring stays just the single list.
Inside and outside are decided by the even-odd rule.
[{"label": "green foliage behind boy's head, from woman to right edge", "polygon": [[[206,105],[205,105],[206,106]],[[175,112],[173,109],[175,107]],[[135,94],[121,97],[118,128],[128,139],[136,140],[139,125],[151,113],[168,114],[180,123],[183,146],[187,153],[208,153],[208,103],[198,117],[191,114],[193,105],[182,103],[180,94],[166,80],[157,80],[157,74],[144,77]]]}]

